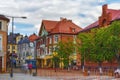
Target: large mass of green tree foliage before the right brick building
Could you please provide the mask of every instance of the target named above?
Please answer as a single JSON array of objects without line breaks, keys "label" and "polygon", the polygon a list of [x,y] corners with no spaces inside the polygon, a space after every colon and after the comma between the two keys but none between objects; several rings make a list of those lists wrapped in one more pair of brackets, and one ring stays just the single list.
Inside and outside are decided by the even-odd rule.
[{"label": "large mass of green tree foliage before the right brick building", "polygon": [[89,33],[80,33],[79,50],[87,61],[98,62],[112,61],[117,55],[120,64],[120,21],[113,22],[108,27],[92,29]]}]

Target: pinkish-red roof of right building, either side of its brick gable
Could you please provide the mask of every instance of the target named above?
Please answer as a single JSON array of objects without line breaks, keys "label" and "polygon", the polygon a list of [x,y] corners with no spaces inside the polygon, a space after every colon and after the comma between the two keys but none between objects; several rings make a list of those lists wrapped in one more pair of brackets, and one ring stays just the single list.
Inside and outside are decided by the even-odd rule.
[{"label": "pinkish-red roof of right building, either side of its brick gable", "polygon": [[[111,21],[120,19],[120,10],[107,9],[107,13],[109,13],[109,12],[112,13]],[[99,26],[99,21],[96,21],[96,22],[90,24],[89,26],[85,27],[83,30],[81,30],[81,32],[90,30],[90,29],[98,27],[98,26]]]}]

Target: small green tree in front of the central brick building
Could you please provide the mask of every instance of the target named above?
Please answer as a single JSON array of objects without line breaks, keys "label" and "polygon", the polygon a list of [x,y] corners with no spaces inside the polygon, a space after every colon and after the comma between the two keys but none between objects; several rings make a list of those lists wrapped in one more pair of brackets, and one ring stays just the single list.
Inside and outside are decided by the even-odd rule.
[{"label": "small green tree in front of the central brick building", "polygon": [[72,41],[59,42],[56,50],[61,62],[64,63],[64,67],[68,67],[70,56],[74,52],[74,44]]}]

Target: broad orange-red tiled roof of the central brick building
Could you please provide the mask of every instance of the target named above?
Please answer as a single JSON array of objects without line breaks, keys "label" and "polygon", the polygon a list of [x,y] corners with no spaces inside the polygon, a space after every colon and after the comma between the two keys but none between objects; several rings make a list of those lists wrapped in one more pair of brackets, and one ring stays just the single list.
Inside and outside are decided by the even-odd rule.
[{"label": "broad orange-red tiled roof of the central brick building", "polygon": [[[43,25],[50,34],[57,33],[75,34],[82,29],[76,24],[74,24],[71,20],[67,19],[63,19],[61,21],[43,20]],[[72,29],[75,29],[75,32],[73,32]]]}]

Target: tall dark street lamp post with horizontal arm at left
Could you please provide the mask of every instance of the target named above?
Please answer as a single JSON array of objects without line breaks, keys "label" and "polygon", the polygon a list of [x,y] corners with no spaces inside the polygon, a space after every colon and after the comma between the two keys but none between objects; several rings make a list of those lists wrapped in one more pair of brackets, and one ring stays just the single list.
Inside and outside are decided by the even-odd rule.
[{"label": "tall dark street lamp post with horizontal arm at left", "polygon": [[12,49],[11,49],[11,52],[12,52],[12,55],[11,55],[11,71],[10,71],[10,77],[13,77],[13,43],[14,43],[14,39],[13,39],[13,33],[14,33],[14,19],[15,18],[22,18],[22,19],[26,19],[27,17],[18,17],[18,16],[6,16],[6,17],[9,17],[12,19],[12,42],[11,42],[11,45],[12,45]]}]

